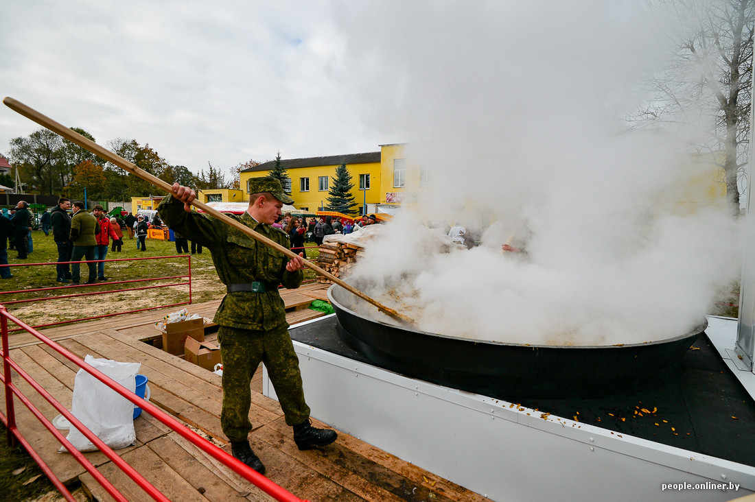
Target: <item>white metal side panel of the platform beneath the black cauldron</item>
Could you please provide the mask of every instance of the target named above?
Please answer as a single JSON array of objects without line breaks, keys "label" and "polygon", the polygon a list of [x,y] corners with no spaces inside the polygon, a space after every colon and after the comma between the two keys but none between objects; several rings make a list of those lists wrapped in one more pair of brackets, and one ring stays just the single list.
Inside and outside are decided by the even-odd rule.
[{"label": "white metal side panel of the platform beneath the black cauldron", "polygon": [[[731,500],[755,468],[452,390],[294,341],[313,416],[492,500]],[[275,397],[270,380],[266,395]],[[661,491],[733,482],[739,491]]]}]

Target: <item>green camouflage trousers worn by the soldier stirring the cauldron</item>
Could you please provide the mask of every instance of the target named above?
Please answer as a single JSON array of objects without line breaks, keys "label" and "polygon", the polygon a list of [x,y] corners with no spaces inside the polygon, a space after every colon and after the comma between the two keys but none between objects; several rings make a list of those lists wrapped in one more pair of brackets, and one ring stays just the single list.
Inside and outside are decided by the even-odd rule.
[{"label": "green camouflage trousers worn by the soldier stirring the cauldron", "polygon": [[260,361],[270,375],[285,423],[290,426],[310,417],[304,401],[299,358],[287,329],[252,331],[220,326],[217,332],[223,357],[223,411],[220,427],[230,441],[244,441],[251,431],[249,384]]}]

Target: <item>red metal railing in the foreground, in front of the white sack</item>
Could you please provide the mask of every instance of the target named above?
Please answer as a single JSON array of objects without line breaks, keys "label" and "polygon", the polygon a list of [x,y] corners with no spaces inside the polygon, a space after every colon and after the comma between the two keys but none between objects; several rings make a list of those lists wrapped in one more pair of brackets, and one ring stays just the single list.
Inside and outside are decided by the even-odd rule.
[{"label": "red metal railing in the foreground, in front of the white sack", "polygon": [[250,467],[247,467],[245,464],[242,464],[242,462],[236,460],[236,458],[232,457],[230,454],[227,454],[225,451],[217,448],[217,446],[211,444],[201,436],[194,433],[192,430],[185,427],[183,423],[176,420],[171,415],[166,414],[164,411],[162,411],[160,408],[157,408],[152,403],[141,399],[139,396],[127,390],[122,385],[119,385],[119,383],[111,380],[102,372],[97,371],[97,369],[95,368],[92,368],[90,365],[82,361],[82,359],[79,359],[79,357],[74,353],[69,352],[69,350],[66,350],[65,348],[63,348],[63,346],[60,346],[54,341],[50,340],[48,337],[45,337],[43,334],[39,333],[39,331],[35,331],[34,328],[26,325],[26,323],[20,321],[20,319],[11,316],[5,306],[0,305],[0,331],[2,331],[3,359],[2,383],[5,386],[6,405],[6,414],[4,415],[2,414],[2,412],[0,412],[0,420],[2,420],[2,422],[5,424],[5,427],[8,428],[8,444],[13,445],[14,442],[19,442],[21,445],[23,445],[23,448],[25,448],[26,451],[29,452],[29,455],[31,455],[31,457],[35,460],[35,462],[39,464],[39,467],[42,468],[42,472],[44,472],[45,475],[48,476],[50,481],[60,491],[60,493],[63,494],[63,497],[65,497],[66,500],[75,502],[75,498],[72,496],[68,488],[63,485],[63,482],[60,481],[53,470],[45,463],[44,460],[42,460],[42,457],[40,457],[39,454],[34,451],[32,446],[28,441],[26,441],[26,439],[23,437],[23,434],[20,432],[20,430],[18,430],[16,426],[14,396],[24,406],[26,406],[26,408],[29,408],[29,411],[31,411],[32,414],[37,418],[37,420],[42,423],[42,426],[44,426],[55,437],[55,439],[57,439],[57,441],[60,442],[63,447],[70,452],[70,454],[72,454],[75,460],[79,461],[79,464],[81,464],[82,467],[84,467],[85,470],[87,470],[87,472],[90,473],[98,483],[100,483],[100,485],[108,492],[108,494],[110,494],[116,500],[128,502],[128,499],[126,499],[126,497],[124,497],[123,494],[120,493],[120,491],[115,486],[113,486],[112,483],[109,482],[81,452],[73,448],[71,443],[68,442],[68,440],[54,427],[51,421],[48,420],[41,411],[39,411],[39,408],[36,408],[35,405],[33,405],[29,400],[29,398],[24,395],[19,390],[19,388],[16,387],[16,385],[14,385],[11,379],[11,369],[16,371],[16,373],[20,377],[22,377],[23,380],[26,380],[26,382],[29,383],[32,389],[39,393],[40,396],[45,398],[45,400],[49,402],[57,411],[59,411],[60,414],[63,414],[63,417],[66,417],[69,420],[69,422],[72,424],[72,427],[80,430],[87,439],[89,439],[95,446],[97,446],[97,448],[99,448],[100,451],[102,451],[103,454],[105,454],[105,456],[112,461],[113,464],[119,467],[119,469],[122,470],[122,472],[125,473],[129,478],[134,480],[134,482],[136,482],[137,485],[139,485],[145,491],[145,493],[149,495],[149,497],[152,497],[154,500],[168,501],[170,499],[168,499],[168,497],[165,497],[165,494],[162,494],[161,491],[155,488],[151,483],[149,483],[149,481],[144,479],[144,477],[141,476],[140,473],[134,470],[131,465],[129,465],[125,460],[119,457],[119,455],[116,454],[115,451],[112,451],[109,446],[105,445],[97,436],[94,435],[94,433],[88,430],[79,420],[77,420],[70,411],[68,411],[63,405],[61,405],[60,402],[57,401],[57,399],[51,396],[50,393],[48,393],[44,388],[42,388],[41,385],[39,385],[39,383],[37,383],[31,376],[29,376],[26,371],[23,371],[23,368],[21,368],[17,364],[17,362],[11,359],[8,343],[9,320],[21,326],[25,331],[28,331],[35,337],[39,338],[42,343],[50,346],[57,353],[60,353],[66,359],[79,366],[79,368],[87,371],[89,374],[97,378],[97,380],[100,380],[100,382],[104,383],[107,387],[115,390],[116,393],[119,393],[121,396],[125,397],[125,399],[133,402],[134,405],[142,408],[143,411],[149,413],[157,420],[164,423],[167,427],[170,427],[171,430],[182,436],[187,441],[191,442],[206,454],[209,454],[211,457],[219,460],[227,467],[230,467],[230,469],[232,469],[235,473],[238,473],[244,479],[247,479],[249,482],[257,486],[257,488],[260,488],[260,490],[266,492],[271,497],[275,498],[276,500],[282,500],[286,502],[301,502],[302,499],[300,499],[299,497],[296,497],[294,494],[289,493],[284,488],[281,488],[279,485],[276,485],[276,483],[270,481],[270,479],[267,479],[265,476],[257,473],[257,471],[251,469]]}]

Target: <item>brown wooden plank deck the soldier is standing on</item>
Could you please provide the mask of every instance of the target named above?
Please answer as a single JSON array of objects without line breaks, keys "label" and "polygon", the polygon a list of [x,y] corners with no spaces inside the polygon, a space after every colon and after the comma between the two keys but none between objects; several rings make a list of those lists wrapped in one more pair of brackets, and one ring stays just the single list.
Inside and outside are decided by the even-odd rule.
[{"label": "brown wooden plank deck the soldier is standing on", "polygon": [[[292,324],[322,315],[307,306],[322,297],[322,285],[282,290]],[[212,318],[220,300],[186,306],[190,313]],[[151,402],[230,451],[220,430],[220,377],[171,356],[149,342],[157,338],[154,323],[174,310],[156,310],[42,331],[82,359],[87,354],[122,362],[140,362],[149,378]],[[212,335],[208,334],[211,339]],[[11,357],[58,401],[70,408],[79,368],[27,333],[11,334]],[[267,476],[308,500],[484,500],[412,464],[339,432],[334,445],[321,451],[299,451],[285,425],[278,402],[261,394],[261,371],[251,382],[251,445],[267,467]],[[58,413],[20,377],[14,383],[48,419]],[[0,396],[5,410],[4,396]],[[81,483],[97,500],[112,500],[19,402],[19,430],[66,485]],[[316,420],[315,420],[316,422]],[[316,425],[318,423],[316,422]],[[322,427],[322,424],[319,424]],[[136,444],[118,450],[149,482],[171,500],[272,500],[254,485],[208,457],[159,421],[143,413],[134,420]],[[151,500],[100,452],[86,454],[128,500]]]}]

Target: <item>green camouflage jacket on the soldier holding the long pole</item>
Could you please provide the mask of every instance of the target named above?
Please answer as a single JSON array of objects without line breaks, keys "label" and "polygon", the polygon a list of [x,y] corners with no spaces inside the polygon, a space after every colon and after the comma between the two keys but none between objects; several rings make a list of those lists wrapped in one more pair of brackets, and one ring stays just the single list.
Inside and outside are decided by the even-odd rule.
[{"label": "green camouflage jacket on the soldier holding the long pole", "polygon": [[[215,220],[208,214],[187,213],[183,203],[167,196],[157,210],[162,220],[174,232],[180,233],[210,249],[217,276],[225,285],[264,282],[267,291],[254,293],[239,291],[223,298],[215,313],[214,322],[231,328],[270,331],[288,328],[283,300],[277,285],[298,288],[304,273],[285,269],[288,257],[261,242],[239,232],[232,226]],[[229,215],[285,248],[291,248],[282,230],[258,223],[247,212]]]}]

